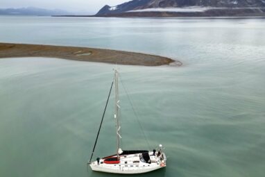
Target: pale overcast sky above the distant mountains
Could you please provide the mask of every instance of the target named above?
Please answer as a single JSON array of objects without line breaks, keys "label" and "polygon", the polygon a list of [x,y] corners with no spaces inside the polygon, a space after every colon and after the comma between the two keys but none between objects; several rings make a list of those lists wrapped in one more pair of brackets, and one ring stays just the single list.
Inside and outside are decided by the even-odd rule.
[{"label": "pale overcast sky above the distant mountains", "polygon": [[59,8],[69,11],[85,11],[90,13],[98,12],[100,8],[108,4],[116,6],[129,0],[0,0],[0,8]]}]

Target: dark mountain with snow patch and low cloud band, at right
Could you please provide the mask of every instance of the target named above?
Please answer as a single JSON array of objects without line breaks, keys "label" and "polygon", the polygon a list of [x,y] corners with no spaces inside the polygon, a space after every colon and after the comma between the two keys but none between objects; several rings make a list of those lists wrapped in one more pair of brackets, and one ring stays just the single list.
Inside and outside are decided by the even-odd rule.
[{"label": "dark mountain with snow patch and low cloud band, at right", "polygon": [[265,16],[265,0],[132,0],[96,16]]}]

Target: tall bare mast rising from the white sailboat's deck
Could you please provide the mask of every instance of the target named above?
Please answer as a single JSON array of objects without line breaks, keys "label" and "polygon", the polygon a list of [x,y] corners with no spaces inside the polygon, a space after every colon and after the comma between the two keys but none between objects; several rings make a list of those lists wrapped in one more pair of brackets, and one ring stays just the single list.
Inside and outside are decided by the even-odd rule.
[{"label": "tall bare mast rising from the white sailboat's deck", "polygon": [[119,135],[121,126],[119,125],[119,88],[118,88],[118,76],[119,73],[117,69],[114,69],[114,81],[115,81],[115,115],[114,118],[116,119],[116,131],[117,131],[117,158],[119,160],[119,149],[120,149],[120,143],[119,139],[121,138],[121,135]]}]

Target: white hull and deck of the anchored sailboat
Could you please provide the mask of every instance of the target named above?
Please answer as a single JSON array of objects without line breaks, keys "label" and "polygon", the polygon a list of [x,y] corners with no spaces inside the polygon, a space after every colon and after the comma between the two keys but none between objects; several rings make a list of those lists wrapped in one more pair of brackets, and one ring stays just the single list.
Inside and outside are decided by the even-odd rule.
[{"label": "white hull and deck of the anchored sailboat", "polygon": [[[121,155],[120,162],[117,164],[105,164],[104,159],[92,162],[90,167],[93,171],[101,171],[112,174],[144,174],[150,171],[166,167],[166,156],[164,153],[159,157],[149,152],[151,163],[142,162],[139,158],[140,153],[131,155]],[[117,155],[113,156],[117,157]]]}]

